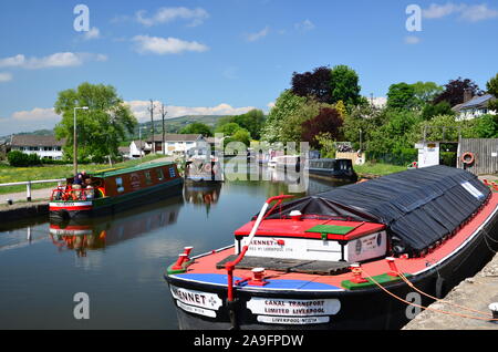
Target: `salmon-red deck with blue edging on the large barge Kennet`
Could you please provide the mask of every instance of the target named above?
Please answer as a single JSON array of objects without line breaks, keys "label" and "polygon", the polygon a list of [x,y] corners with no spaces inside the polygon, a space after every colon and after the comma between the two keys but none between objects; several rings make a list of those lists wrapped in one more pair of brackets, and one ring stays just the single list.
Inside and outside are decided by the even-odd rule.
[{"label": "salmon-red deck with blue edging on the large barge Kennet", "polygon": [[[458,250],[477,236],[480,229],[486,226],[488,221],[498,211],[498,194],[494,193],[489,198],[488,204],[467,224],[450,238],[443,242],[439,247],[433,249],[429,253],[418,258],[397,258],[395,260],[398,272],[416,276],[427,270],[434,269],[443,261],[452,258]],[[194,258],[193,263],[187,271],[181,275],[170,275],[173,278],[187,280],[199,283],[227,284],[227,270],[224,269],[222,263],[232,260],[235,257],[235,248],[229,247],[219,251]],[[291,287],[302,289],[308,284],[318,284],[323,290],[346,290],[342,284],[345,280],[353,279],[353,273],[349,270],[343,270],[341,266],[346,263],[329,262],[329,268],[322,262],[299,262],[291,260],[282,260],[274,258],[256,258],[247,257],[234,271],[237,278],[251,277],[250,269],[255,267],[266,268],[266,277],[271,278],[270,284],[264,289],[271,289],[272,286],[281,289],[281,282],[300,282]],[[307,266],[314,269],[305,269]],[[320,270],[318,270],[320,268]],[[336,270],[333,270],[336,268]],[[388,263],[385,260],[374,260],[362,263],[364,276],[382,276],[390,272]],[[332,270],[332,272],[330,271]],[[302,272],[305,271],[305,272]],[[236,279],[237,280],[237,279]],[[280,282],[280,283],[281,283]],[[253,289],[253,288],[252,288]],[[291,289],[287,287],[287,289]]]}]

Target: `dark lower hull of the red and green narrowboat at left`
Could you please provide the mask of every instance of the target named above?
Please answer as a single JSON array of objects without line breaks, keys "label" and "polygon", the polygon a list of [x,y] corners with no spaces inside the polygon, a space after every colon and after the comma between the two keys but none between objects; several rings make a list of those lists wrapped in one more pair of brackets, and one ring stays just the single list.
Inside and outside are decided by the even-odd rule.
[{"label": "dark lower hull of the red and green narrowboat at left", "polygon": [[49,204],[50,218],[68,220],[113,215],[152,201],[180,195],[181,189],[183,179],[175,178],[160,185],[116,197],[96,198],[86,201],[51,201]]}]

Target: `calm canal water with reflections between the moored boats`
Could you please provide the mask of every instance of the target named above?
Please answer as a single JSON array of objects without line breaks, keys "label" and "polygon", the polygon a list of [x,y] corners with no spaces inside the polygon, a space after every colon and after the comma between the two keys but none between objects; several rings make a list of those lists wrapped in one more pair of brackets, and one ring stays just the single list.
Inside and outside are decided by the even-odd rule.
[{"label": "calm canal water with reflections between the moored boats", "polygon": [[[289,194],[282,178],[185,185],[181,196],[91,222],[0,225],[0,329],[178,329],[164,270],[186,246],[199,255],[231,245],[267,198]],[[334,186],[310,178],[297,196]],[[79,292],[90,319],[74,318]]]}]

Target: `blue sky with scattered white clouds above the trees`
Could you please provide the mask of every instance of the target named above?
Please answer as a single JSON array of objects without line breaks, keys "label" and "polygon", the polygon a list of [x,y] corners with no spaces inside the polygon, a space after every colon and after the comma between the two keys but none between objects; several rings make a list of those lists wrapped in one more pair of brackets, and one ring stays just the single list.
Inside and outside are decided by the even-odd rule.
[{"label": "blue sky with scattered white clouds above the trees", "polygon": [[355,70],[369,97],[485,89],[497,33],[496,1],[2,0],[0,136],[52,128],[58,93],[83,82],[113,85],[141,122],[151,99],[168,117],[268,112],[293,72],[323,65]]}]

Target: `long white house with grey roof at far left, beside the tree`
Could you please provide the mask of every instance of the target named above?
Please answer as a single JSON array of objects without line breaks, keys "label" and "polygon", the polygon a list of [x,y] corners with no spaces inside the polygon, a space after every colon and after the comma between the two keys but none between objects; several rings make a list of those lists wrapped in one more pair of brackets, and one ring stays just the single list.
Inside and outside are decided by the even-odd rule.
[{"label": "long white house with grey roof at far left, beside the tree", "polygon": [[10,149],[24,154],[38,154],[40,158],[61,161],[64,144],[65,139],[58,141],[54,136],[13,135]]}]

